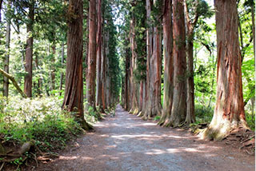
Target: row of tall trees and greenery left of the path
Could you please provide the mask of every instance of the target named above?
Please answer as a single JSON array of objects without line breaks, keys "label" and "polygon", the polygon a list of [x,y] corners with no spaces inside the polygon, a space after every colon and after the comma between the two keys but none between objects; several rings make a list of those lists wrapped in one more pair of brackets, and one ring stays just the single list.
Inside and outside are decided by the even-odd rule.
[{"label": "row of tall trees and greenery left of the path", "polygon": [[96,105],[101,113],[113,107],[121,86],[111,6],[106,0],[1,1],[3,96],[62,97],[62,109],[90,129],[84,111],[100,117]]}]

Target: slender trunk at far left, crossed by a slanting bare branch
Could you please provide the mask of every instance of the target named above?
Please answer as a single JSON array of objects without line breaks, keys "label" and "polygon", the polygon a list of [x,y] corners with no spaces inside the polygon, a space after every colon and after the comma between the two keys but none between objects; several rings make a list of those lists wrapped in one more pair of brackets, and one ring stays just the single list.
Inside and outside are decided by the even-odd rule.
[{"label": "slender trunk at far left, crossed by a slanting bare branch", "polygon": [[[8,12],[10,10],[10,1],[8,4]],[[8,13],[7,12],[7,13]],[[7,16],[7,24],[6,24],[6,55],[3,63],[4,71],[9,74],[9,60],[10,59],[10,18]],[[8,97],[9,93],[9,79],[3,77],[3,96]]]}]

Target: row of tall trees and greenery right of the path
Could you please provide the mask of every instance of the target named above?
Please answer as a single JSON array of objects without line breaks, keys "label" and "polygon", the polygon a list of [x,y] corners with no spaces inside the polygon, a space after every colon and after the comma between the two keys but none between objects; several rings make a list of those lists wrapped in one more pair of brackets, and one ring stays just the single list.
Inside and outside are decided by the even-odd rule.
[{"label": "row of tall trees and greenery right of the path", "polygon": [[213,113],[202,136],[216,140],[231,129],[248,129],[246,118],[254,123],[254,1],[124,4],[124,109],[173,127]]}]

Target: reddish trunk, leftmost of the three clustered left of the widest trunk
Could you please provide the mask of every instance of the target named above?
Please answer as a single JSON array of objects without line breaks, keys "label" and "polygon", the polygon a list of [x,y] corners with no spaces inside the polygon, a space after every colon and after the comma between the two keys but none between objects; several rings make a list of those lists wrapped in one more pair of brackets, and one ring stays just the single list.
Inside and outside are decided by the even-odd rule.
[{"label": "reddish trunk, leftmost of the three clustered left of the widest trunk", "polygon": [[172,0],[164,1],[163,13],[163,51],[164,51],[164,81],[162,117],[158,125],[168,125],[171,115],[174,93],[174,59],[173,59],[173,30],[172,30]]}]

